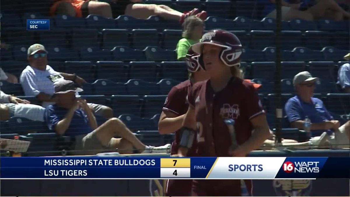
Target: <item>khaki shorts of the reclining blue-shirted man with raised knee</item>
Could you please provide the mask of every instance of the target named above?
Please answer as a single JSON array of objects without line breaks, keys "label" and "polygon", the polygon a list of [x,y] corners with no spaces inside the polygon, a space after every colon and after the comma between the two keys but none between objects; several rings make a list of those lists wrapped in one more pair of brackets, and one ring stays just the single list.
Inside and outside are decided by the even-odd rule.
[{"label": "khaki shorts of the reclining blue-shirted man with raised knee", "polygon": [[104,146],[98,140],[95,130],[89,134],[77,135],[73,145],[74,155],[96,155],[100,152],[114,152],[111,142]]}]

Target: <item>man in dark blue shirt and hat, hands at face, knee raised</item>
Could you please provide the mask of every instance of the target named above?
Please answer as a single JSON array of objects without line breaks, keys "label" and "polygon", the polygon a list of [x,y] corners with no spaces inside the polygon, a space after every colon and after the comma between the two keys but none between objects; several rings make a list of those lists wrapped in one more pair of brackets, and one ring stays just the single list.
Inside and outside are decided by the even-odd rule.
[{"label": "man in dark blue shirt and hat, hands at face, knee raised", "polygon": [[[133,147],[141,153],[168,152],[170,144],[146,146],[118,118],[110,118],[97,126],[96,118],[86,101],[76,98],[83,91],[73,81],[62,80],[55,84],[56,104],[45,109],[45,121],[58,135],[75,137],[73,149],[77,155],[97,154],[118,149],[121,154],[133,153]],[[120,136],[121,138],[114,138]]]}]

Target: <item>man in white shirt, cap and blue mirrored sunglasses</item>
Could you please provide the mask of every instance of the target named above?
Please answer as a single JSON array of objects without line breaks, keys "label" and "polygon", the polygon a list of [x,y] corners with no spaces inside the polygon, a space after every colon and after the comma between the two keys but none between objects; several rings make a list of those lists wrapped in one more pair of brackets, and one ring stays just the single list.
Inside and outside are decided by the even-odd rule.
[{"label": "man in white shirt, cap and blue mirrored sunglasses", "polygon": [[[54,84],[62,80],[71,80],[80,87],[86,81],[75,75],[57,72],[48,65],[48,52],[43,45],[34,44],[28,48],[27,53],[29,66],[27,66],[20,76],[20,82],[26,96],[35,96],[42,102],[43,107],[54,104],[56,101],[51,96],[54,94]],[[107,106],[88,103],[89,107],[96,115],[105,118],[113,117],[113,110]]]}]

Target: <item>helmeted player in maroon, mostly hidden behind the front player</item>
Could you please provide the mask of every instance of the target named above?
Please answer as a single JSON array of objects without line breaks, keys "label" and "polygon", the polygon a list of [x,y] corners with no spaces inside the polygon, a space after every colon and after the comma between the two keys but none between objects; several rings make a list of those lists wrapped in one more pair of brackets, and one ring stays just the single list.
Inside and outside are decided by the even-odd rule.
[{"label": "helmeted player in maroon, mostly hidden behind the front player", "polygon": [[[198,81],[209,79],[209,76],[199,66],[199,55],[194,53],[191,48],[188,49],[186,55],[187,70],[189,79],[174,86],[168,93],[162,114],[159,119],[159,133],[170,134],[175,133],[175,141],[171,147],[171,154],[177,154],[180,142],[179,129],[182,127],[184,114],[188,109],[186,97],[188,89]],[[195,142],[194,142],[195,144]],[[188,156],[194,154],[194,146],[188,151]],[[167,196],[189,196],[191,193],[192,180],[190,179],[170,179],[167,182]]]}]

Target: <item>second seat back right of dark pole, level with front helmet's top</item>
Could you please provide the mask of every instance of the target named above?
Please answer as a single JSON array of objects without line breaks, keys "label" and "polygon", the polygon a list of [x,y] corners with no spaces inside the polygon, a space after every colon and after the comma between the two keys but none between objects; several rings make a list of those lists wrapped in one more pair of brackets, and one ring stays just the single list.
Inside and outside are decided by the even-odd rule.
[{"label": "second seat back right of dark pole, level with front helmet's top", "polygon": [[331,34],[322,31],[306,31],[303,34],[304,47],[321,50],[323,47],[331,46]]}]

